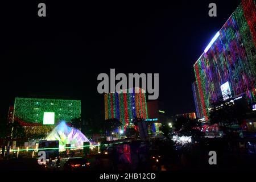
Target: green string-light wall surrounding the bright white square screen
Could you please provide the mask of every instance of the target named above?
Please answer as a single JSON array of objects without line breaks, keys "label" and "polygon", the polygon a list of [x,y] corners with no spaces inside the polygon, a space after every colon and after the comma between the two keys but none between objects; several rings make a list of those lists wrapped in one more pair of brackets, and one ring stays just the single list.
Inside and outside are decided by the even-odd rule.
[{"label": "green string-light wall surrounding the bright white square screen", "polygon": [[14,118],[27,123],[42,123],[44,112],[55,113],[55,124],[81,116],[81,101],[46,98],[15,98]]}]

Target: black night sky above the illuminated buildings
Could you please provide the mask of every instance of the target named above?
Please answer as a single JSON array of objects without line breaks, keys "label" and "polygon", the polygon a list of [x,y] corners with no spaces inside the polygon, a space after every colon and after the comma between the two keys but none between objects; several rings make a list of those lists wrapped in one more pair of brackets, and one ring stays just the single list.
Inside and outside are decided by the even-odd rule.
[{"label": "black night sky above the illuminated buildings", "polygon": [[[0,118],[15,97],[82,100],[86,118],[102,114],[97,76],[159,73],[169,115],[195,111],[193,64],[240,1],[1,2]],[[208,16],[210,2],[217,17]],[[103,117],[103,115],[102,115]]]}]

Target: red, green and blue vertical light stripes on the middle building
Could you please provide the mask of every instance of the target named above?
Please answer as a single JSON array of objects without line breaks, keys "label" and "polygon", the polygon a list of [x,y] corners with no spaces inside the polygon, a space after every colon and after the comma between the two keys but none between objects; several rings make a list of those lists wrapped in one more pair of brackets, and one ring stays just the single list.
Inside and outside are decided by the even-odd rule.
[{"label": "red, green and blue vertical light stripes on the middle building", "polygon": [[124,125],[135,117],[147,119],[145,93],[141,88],[130,88],[105,94],[105,119],[116,118]]}]

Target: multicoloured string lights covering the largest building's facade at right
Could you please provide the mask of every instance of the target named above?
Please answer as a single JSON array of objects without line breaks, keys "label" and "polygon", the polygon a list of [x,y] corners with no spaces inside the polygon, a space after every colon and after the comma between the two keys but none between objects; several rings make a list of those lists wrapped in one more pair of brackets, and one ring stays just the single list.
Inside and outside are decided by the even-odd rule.
[{"label": "multicoloured string lights covering the largest building's facade at right", "polygon": [[220,86],[227,81],[232,96],[245,94],[249,102],[256,101],[255,10],[253,0],[242,1],[194,64],[197,116],[208,120],[208,107],[222,96]]}]

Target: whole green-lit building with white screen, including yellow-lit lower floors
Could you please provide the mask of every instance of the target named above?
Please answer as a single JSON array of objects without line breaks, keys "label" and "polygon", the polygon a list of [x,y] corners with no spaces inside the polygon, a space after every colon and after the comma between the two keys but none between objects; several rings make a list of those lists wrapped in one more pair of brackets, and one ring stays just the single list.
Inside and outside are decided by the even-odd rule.
[{"label": "whole green-lit building with white screen, including yellow-lit lower floors", "polygon": [[24,127],[27,137],[46,137],[59,121],[70,122],[79,117],[79,100],[15,98],[13,121]]}]

